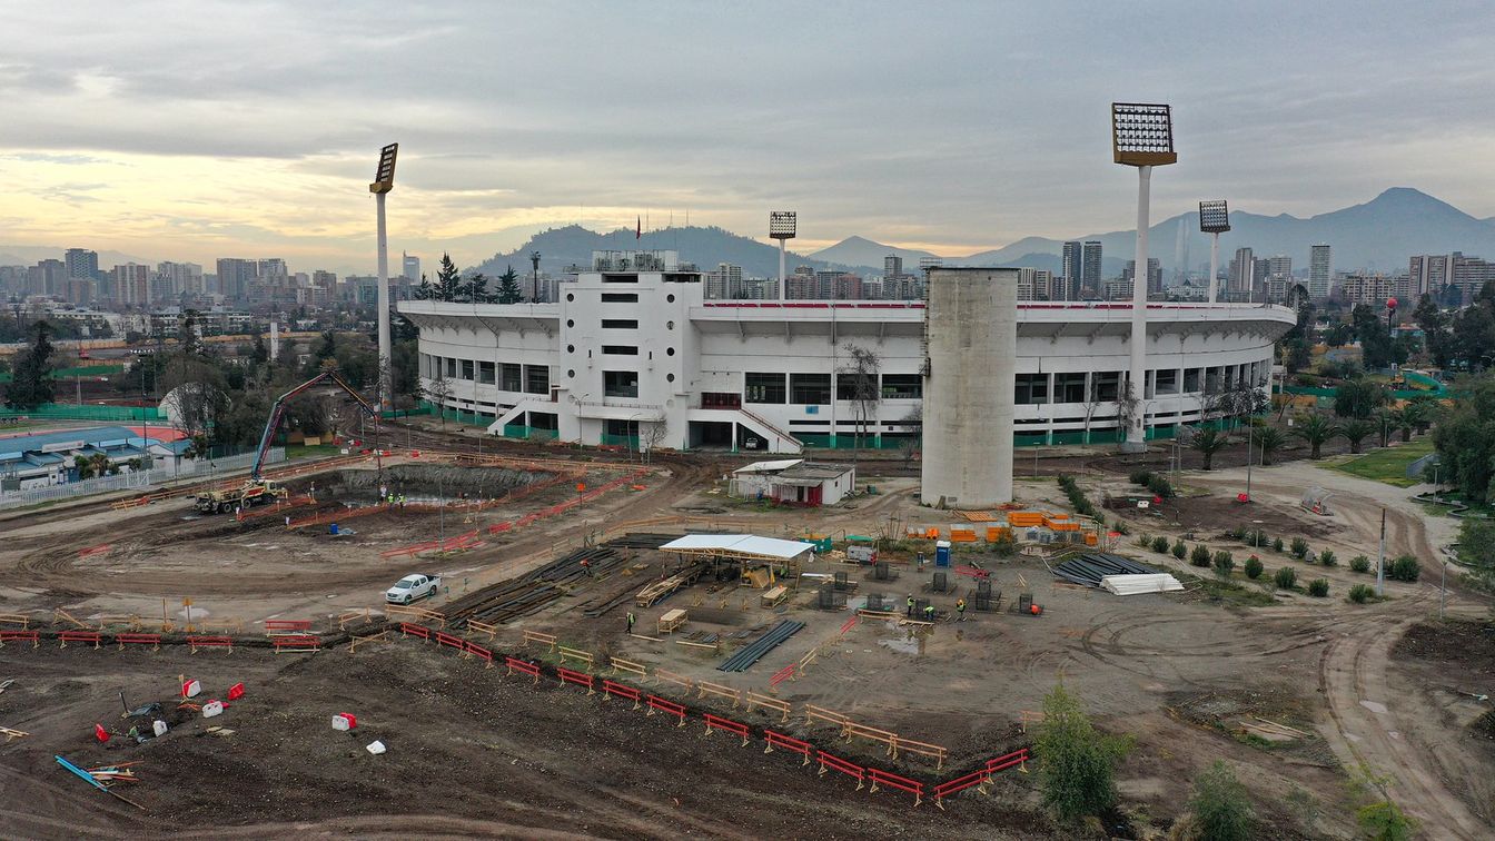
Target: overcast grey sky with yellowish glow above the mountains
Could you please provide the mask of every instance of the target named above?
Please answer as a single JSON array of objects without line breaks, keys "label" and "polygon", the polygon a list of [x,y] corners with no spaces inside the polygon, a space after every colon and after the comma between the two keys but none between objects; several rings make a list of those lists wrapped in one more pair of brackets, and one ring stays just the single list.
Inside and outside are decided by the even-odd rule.
[{"label": "overcast grey sky with yellowish glow above the mountains", "polygon": [[[1154,220],[1386,187],[1495,215],[1495,4],[9,3],[0,250],[428,265],[583,223],[800,212],[966,254],[1135,223],[1112,100],[1169,102]],[[398,265],[398,260],[396,260]],[[209,268],[211,271],[211,268]]]}]

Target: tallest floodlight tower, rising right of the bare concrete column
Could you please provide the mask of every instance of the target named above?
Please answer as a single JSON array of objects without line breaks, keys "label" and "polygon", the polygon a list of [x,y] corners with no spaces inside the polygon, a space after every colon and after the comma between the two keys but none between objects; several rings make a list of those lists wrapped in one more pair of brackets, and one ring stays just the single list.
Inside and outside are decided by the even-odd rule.
[{"label": "tallest floodlight tower, rising right of the bare concrete column", "polygon": [[1111,103],[1111,151],[1117,163],[1135,166],[1136,269],[1132,272],[1132,382],[1133,403],[1123,452],[1147,449],[1144,400],[1147,398],[1147,215],[1153,168],[1178,162],[1174,151],[1174,115],[1168,105]]}]

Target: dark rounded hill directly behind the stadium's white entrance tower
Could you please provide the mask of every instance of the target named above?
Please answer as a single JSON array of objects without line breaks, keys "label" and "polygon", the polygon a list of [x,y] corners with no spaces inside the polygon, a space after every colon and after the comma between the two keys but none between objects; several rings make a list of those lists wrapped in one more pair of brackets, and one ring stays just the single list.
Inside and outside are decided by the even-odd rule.
[{"label": "dark rounded hill directly behind the stadium's white entrance tower", "polygon": [[[604,250],[674,250],[680,259],[695,263],[701,271],[715,269],[716,263],[734,263],[749,277],[779,277],[779,248],[767,242],[739,236],[721,227],[670,227],[644,232],[634,239],[634,230],[620,229],[610,233],[588,230],[579,224],[552,227],[534,235],[528,242],[510,253],[493,254],[477,266],[487,275],[502,274],[510,265],[523,274],[529,271],[529,253],[540,251],[540,268],[561,272],[573,265],[591,265],[592,251]],[[825,260],[789,253],[788,271],[809,265],[816,269],[830,268]],[[881,260],[879,260],[881,265]],[[881,271],[881,269],[879,269]]]}]

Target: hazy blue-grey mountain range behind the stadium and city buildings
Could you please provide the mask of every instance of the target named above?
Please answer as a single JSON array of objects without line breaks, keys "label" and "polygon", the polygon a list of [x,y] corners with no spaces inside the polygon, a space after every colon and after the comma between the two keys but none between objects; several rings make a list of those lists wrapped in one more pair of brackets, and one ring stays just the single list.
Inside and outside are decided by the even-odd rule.
[{"label": "hazy blue-grey mountain range behind the stadium and city buildings", "polygon": [[[1150,253],[1166,271],[1172,271],[1178,254],[1178,229],[1187,239],[1189,263],[1197,269],[1208,260],[1209,239],[1199,232],[1197,211],[1172,215],[1150,227]],[[1120,274],[1136,248],[1132,230],[1079,233],[1066,239],[1097,239],[1105,254],[1103,271]],[[828,248],[798,254],[791,251],[789,269],[809,265],[816,269],[845,268],[863,274],[882,274],[885,256],[903,257],[904,271],[916,271],[921,257],[940,256],[948,265],[1030,266],[1060,271],[1060,254],[1066,239],[1026,236],[990,251],[975,254],[933,254],[913,248],[898,248],[849,236]],[[1253,248],[1253,256],[1287,254],[1293,266],[1308,265],[1308,247],[1328,242],[1334,247],[1334,269],[1372,269],[1396,272],[1407,268],[1411,254],[1467,254],[1495,259],[1495,217],[1476,218],[1447,202],[1410,187],[1393,187],[1369,202],[1319,215],[1299,218],[1289,214],[1262,215],[1245,211],[1230,214],[1230,230],[1220,235],[1220,268],[1223,269],[1239,247]],[[749,277],[776,277],[779,251],[774,245],[739,236],[721,227],[671,227],[652,230],[635,239],[634,230],[620,229],[598,233],[579,226],[550,229],[507,254],[495,254],[477,266],[486,274],[501,274],[507,265],[528,271],[529,254],[541,253],[541,268],[559,271],[570,265],[586,265],[594,250],[605,248],[674,248],[680,259],[701,269],[719,262],[743,266]]]}]

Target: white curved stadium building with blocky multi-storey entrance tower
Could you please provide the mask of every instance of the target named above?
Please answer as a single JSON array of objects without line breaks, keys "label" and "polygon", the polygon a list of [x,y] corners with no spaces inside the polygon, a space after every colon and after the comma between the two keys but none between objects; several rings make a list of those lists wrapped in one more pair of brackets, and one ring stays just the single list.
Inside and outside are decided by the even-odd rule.
[{"label": "white curved stadium building with blocky multi-storey entrance tower", "polygon": [[[846,376],[854,346],[879,359],[863,446],[918,438],[921,301],[707,301],[697,271],[582,271],[553,304],[407,301],[399,311],[420,329],[425,394],[495,434],[641,449],[849,447],[864,406],[852,383],[866,382]],[[1266,385],[1293,322],[1277,305],[1150,302],[1148,437],[1197,422],[1206,391]],[[1024,301],[1017,326],[1015,443],[1124,438],[1117,395],[1132,304]]]}]

